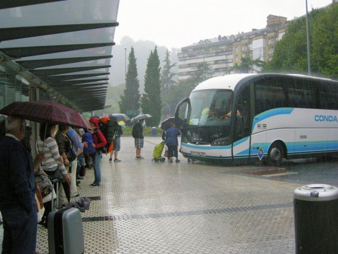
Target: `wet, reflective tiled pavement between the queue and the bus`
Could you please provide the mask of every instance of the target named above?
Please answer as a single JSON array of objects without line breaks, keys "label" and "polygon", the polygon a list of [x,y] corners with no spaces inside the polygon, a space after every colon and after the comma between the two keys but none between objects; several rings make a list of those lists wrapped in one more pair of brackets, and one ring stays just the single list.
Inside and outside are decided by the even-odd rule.
[{"label": "wet, reflective tiled pavement between the queue and the bus", "polygon": [[[135,160],[133,139],[122,137],[122,162],[103,156],[100,187],[89,187],[87,170],[80,189],[93,199],[82,214],[86,253],[294,253],[294,190],[338,186],[338,161],[288,162],[286,173],[259,176],[246,173],[266,167],[152,162],[160,142],[146,137],[146,159]],[[40,225],[37,246],[47,253]]]}]

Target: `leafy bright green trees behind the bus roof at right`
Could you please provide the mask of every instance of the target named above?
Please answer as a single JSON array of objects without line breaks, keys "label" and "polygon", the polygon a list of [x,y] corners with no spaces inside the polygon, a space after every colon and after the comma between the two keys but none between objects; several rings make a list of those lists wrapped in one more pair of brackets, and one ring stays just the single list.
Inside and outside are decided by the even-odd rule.
[{"label": "leafy bright green trees behind the bus roof at right", "polygon": [[[338,3],[309,14],[311,69],[314,75],[338,77]],[[264,72],[308,73],[305,17],[292,21]]]}]

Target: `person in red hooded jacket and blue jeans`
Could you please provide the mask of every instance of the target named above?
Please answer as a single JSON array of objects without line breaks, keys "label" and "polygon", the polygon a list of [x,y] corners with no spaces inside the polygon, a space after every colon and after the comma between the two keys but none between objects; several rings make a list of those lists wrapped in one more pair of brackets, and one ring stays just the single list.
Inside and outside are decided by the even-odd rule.
[{"label": "person in red hooded jacket and blue jeans", "polygon": [[90,185],[91,187],[100,186],[101,185],[101,158],[103,148],[107,145],[107,140],[105,136],[103,136],[102,132],[99,130],[99,119],[98,118],[90,118],[89,125],[91,129],[94,130],[93,133],[93,143],[92,147],[96,149],[96,152],[93,156],[93,168],[95,181]]}]

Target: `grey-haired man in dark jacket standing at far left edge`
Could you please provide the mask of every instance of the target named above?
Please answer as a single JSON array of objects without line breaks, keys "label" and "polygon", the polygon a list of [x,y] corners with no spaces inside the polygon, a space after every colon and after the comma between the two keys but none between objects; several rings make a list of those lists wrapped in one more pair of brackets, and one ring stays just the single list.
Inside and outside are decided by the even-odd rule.
[{"label": "grey-haired man in dark jacket standing at far left edge", "polygon": [[0,142],[0,210],[4,220],[3,253],[35,253],[37,213],[33,164],[20,142],[25,120],[9,116]]}]

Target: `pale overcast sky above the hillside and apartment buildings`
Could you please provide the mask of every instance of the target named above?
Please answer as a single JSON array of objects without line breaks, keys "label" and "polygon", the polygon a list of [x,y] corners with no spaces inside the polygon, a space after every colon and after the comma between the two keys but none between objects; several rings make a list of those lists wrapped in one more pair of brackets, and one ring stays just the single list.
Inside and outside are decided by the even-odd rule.
[{"label": "pale overcast sky above the hillside and apartment buildings", "polygon": [[[308,0],[308,10],[332,0]],[[124,36],[181,48],[200,39],[266,26],[269,14],[291,20],[305,14],[305,0],[121,0],[114,41]]]}]

